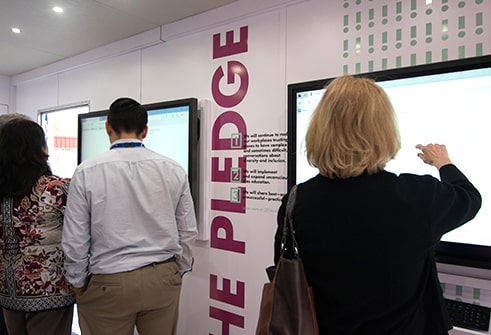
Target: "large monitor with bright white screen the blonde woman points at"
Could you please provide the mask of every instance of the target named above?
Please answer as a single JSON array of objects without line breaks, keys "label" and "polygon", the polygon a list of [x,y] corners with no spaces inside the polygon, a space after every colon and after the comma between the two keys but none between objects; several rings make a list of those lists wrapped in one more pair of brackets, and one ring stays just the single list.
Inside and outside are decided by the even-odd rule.
[{"label": "large monitor with bright white screen the blonde woman points at", "polygon": [[[437,260],[491,269],[491,178],[487,169],[491,143],[491,56],[361,74],[385,89],[397,114],[402,148],[386,170],[431,174],[438,171],[417,157],[418,143],[443,143],[452,161],[483,198],[469,223],[443,236]],[[318,173],[305,153],[310,117],[332,80],[288,85],[288,187]]]}]

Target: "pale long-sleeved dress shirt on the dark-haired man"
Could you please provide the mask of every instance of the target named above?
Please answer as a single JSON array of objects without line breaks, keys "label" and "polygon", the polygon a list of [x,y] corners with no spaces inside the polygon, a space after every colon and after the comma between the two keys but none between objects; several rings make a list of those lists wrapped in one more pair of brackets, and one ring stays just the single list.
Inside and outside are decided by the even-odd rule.
[{"label": "pale long-sleeved dress shirt on the dark-haired man", "polygon": [[[118,140],[113,143],[139,142]],[[80,164],[68,192],[62,235],[68,281],[138,269],[176,257],[192,270],[197,236],[184,169],[145,147],[118,147]]]}]

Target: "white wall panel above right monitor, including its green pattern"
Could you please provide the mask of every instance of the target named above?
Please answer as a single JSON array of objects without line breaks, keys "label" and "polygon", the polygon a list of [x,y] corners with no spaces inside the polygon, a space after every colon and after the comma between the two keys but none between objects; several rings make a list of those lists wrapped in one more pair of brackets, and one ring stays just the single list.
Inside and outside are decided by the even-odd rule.
[{"label": "white wall panel above right monitor, including its green pattern", "polygon": [[489,1],[311,0],[288,7],[287,81],[491,53]]}]

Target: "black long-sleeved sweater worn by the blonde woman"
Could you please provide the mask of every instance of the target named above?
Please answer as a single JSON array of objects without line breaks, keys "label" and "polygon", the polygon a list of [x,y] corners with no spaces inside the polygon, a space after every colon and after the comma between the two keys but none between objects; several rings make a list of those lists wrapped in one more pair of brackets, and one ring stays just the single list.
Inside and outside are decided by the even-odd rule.
[{"label": "black long-sleeved sweater worn by the blonde woman", "polygon": [[454,165],[440,177],[381,171],[299,184],[296,237],[321,335],[448,333],[433,248],[477,214],[481,196]]}]

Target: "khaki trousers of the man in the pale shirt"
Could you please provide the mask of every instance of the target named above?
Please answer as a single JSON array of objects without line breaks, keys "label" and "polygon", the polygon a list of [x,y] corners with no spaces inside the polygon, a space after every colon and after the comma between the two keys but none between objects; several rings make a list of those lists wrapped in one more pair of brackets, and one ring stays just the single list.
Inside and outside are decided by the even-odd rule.
[{"label": "khaki trousers of the man in the pale shirt", "polygon": [[175,261],[92,275],[77,301],[82,334],[175,334],[181,283]]}]

